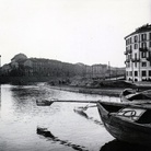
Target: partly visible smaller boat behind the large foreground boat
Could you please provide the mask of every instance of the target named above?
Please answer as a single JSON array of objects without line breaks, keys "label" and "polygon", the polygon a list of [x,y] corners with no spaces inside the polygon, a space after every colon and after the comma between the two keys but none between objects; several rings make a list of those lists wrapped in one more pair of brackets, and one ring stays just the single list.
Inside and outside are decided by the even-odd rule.
[{"label": "partly visible smaller boat behind the large foreground boat", "polygon": [[142,91],[142,92],[137,92],[136,90],[132,89],[125,89],[120,93],[120,101],[121,102],[151,102],[151,91]]}]

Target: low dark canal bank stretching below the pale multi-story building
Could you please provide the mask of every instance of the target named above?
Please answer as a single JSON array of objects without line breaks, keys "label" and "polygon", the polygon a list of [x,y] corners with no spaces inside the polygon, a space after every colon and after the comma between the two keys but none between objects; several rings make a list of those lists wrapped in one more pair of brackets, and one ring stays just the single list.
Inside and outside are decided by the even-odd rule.
[{"label": "low dark canal bank stretching below the pale multi-story building", "polygon": [[[100,94],[100,95],[108,95],[108,96],[119,96],[123,90],[125,89],[136,89],[137,91],[143,91],[151,89],[150,82],[136,82],[130,83],[126,81],[118,81],[118,80],[111,80],[111,81],[102,81],[96,82],[94,84],[89,84],[89,86],[85,84],[86,82],[76,81],[78,84],[55,84],[51,85],[50,83],[47,83],[49,86],[56,90],[63,90],[63,91],[70,91],[70,92],[78,92],[78,93],[88,93],[88,94]],[[84,84],[83,84],[84,83]]]}]

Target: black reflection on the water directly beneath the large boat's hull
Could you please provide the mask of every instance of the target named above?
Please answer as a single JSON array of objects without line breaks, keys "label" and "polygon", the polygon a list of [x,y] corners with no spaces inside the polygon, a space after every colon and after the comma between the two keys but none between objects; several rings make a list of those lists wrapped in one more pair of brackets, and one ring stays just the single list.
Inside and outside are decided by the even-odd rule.
[{"label": "black reflection on the water directly beneath the large boat's hull", "polygon": [[113,141],[105,143],[100,151],[150,151],[150,150],[151,147],[131,144],[115,139]]}]

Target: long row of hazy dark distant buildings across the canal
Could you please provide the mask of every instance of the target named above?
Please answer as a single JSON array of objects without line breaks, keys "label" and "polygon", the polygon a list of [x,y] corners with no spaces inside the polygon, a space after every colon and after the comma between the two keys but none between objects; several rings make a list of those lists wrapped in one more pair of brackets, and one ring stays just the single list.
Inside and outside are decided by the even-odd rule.
[{"label": "long row of hazy dark distant buildings across the canal", "polygon": [[24,54],[18,54],[11,62],[0,68],[2,77],[49,77],[49,78],[72,78],[83,77],[91,79],[105,79],[109,74],[123,73],[123,69],[111,68],[107,65],[86,66],[83,63],[61,62],[45,58],[27,58]]}]

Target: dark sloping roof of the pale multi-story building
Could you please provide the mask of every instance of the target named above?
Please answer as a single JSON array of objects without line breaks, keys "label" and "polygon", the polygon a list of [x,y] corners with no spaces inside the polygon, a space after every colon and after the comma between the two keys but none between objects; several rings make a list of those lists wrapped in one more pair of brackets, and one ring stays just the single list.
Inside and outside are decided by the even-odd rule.
[{"label": "dark sloping roof of the pale multi-story building", "polygon": [[131,35],[135,35],[135,34],[138,34],[138,33],[150,32],[150,31],[151,31],[151,24],[142,25],[142,26],[136,28],[136,31],[132,32],[131,34],[127,35],[127,36],[125,37],[125,39],[126,39],[127,37],[131,36]]}]

